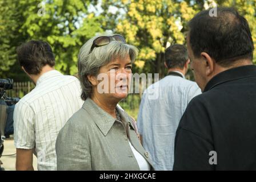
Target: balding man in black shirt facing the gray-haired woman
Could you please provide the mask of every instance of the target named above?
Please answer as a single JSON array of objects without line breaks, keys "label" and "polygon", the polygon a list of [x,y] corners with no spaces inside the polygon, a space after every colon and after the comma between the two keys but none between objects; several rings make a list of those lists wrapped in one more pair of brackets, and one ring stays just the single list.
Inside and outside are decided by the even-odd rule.
[{"label": "balding man in black shirt facing the gray-haired woman", "polygon": [[175,137],[174,170],[256,169],[256,67],[249,25],[237,11],[202,11],[189,22],[187,49],[202,94]]}]

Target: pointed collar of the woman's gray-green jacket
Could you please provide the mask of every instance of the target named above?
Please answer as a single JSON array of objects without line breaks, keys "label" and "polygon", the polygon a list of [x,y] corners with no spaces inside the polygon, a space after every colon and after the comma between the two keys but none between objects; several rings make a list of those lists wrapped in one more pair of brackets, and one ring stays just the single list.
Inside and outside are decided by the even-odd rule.
[{"label": "pointed collar of the woman's gray-green jacket", "polygon": [[[87,110],[90,113],[91,117],[94,119],[94,122],[99,127],[99,130],[103,133],[103,135],[107,135],[109,130],[114,125],[116,121],[109,113],[105,110],[101,109],[93,100],[87,98],[85,103],[83,104],[83,109]],[[120,114],[123,123],[129,123],[129,125],[134,129],[132,121],[130,121],[129,116],[125,113],[125,111],[119,109],[118,106],[115,107]],[[134,129],[135,130],[135,129]]]}]

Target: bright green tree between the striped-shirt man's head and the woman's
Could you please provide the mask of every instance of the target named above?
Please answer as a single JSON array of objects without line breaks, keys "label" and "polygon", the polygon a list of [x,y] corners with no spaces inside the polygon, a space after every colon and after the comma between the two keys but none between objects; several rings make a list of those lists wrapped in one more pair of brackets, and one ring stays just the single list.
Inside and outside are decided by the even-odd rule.
[{"label": "bright green tree between the striped-shirt man's head and the woman's", "polygon": [[[21,1],[26,4],[27,1]],[[26,22],[21,32],[29,34],[30,39],[46,40],[53,46],[56,68],[65,74],[77,72],[79,48],[97,32],[102,32],[98,17],[89,14],[90,1],[47,1],[45,15],[38,16],[38,1],[33,1],[25,11]]]}]

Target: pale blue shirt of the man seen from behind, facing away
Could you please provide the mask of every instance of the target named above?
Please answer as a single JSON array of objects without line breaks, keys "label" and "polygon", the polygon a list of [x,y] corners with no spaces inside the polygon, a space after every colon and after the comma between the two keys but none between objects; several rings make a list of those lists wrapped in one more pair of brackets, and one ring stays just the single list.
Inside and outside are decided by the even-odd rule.
[{"label": "pale blue shirt of the man seen from behind, facing away", "polygon": [[[159,95],[152,99],[150,93],[155,89]],[[155,170],[173,169],[174,139],[179,121],[189,101],[200,93],[198,85],[183,75],[166,76],[143,93],[137,126]]]}]

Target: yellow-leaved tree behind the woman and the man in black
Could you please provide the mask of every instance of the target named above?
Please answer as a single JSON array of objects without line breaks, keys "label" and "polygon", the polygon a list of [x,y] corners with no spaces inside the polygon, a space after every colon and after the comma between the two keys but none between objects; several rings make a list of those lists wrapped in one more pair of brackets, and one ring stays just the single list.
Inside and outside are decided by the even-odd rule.
[{"label": "yellow-leaved tree behind the woman and the man in black", "polygon": [[[217,6],[235,7],[246,17],[256,46],[255,0],[215,2]],[[207,6],[211,7],[211,4],[214,4],[213,0],[103,0],[103,16],[106,17],[103,25],[105,30],[125,35],[128,43],[139,48],[138,59],[135,62],[137,71],[159,73],[160,77],[163,77],[163,52],[166,46],[175,43],[185,44],[187,22]],[[115,7],[118,11],[111,13],[110,7]],[[190,77],[193,77],[191,72]]]}]

